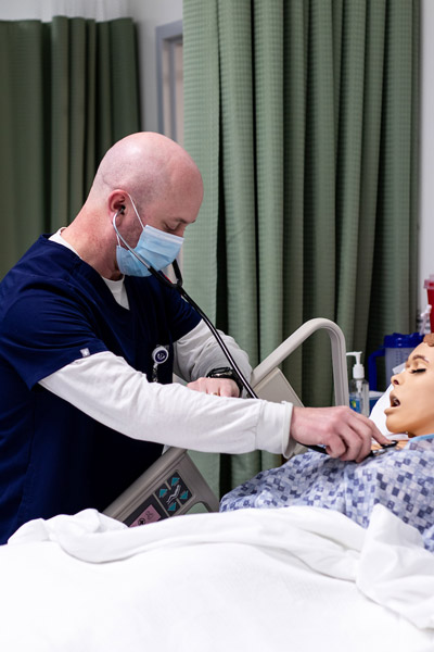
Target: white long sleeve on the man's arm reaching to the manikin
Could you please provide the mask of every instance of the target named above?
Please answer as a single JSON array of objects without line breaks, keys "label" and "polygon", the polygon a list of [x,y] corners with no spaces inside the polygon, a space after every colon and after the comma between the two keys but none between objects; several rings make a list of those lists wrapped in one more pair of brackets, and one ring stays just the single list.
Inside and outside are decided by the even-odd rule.
[{"label": "white long sleeve on the man's arm reaching to the manikin", "polygon": [[292,405],[149,383],[111,352],[79,359],[40,385],[133,439],[204,452],[289,455]]}]

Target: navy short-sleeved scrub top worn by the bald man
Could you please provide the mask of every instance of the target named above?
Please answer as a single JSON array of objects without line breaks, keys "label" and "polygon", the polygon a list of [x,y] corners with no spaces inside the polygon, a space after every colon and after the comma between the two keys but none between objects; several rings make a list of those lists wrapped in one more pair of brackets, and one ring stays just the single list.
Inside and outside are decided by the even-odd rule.
[{"label": "navy short-sleeved scrub top worn by the bald man", "polygon": [[174,342],[200,316],[153,277],[126,277],[129,310],[73,251],[41,236],[0,284],[0,543],[23,523],[103,511],[161,454],[43,389],[38,381],[100,351],[152,380],[152,351],[168,348],[158,381],[171,383]]}]

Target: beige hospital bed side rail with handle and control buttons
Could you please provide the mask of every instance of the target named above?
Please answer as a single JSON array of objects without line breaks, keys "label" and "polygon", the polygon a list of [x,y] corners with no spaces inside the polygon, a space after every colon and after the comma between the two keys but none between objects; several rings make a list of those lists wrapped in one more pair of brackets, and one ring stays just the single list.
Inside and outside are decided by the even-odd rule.
[{"label": "beige hospital bed side rail with handle and control buttons", "polygon": [[[334,404],[348,405],[345,337],[334,322],[324,318],[310,319],[303,324],[253,371],[251,384],[258,398],[302,405],[280,365],[318,330],[324,330],[330,338]],[[302,447],[297,450],[302,450]],[[151,468],[108,505],[104,514],[133,527],[187,514],[197,505],[202,505],[208,512],[218,512],[219,501],[188,451],[169,448]]]}]

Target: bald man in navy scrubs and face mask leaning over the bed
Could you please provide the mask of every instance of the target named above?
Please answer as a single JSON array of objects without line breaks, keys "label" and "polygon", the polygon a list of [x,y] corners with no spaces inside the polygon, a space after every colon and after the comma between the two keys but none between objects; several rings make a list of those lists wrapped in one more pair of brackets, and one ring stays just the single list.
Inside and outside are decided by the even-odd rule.
[{"label": "bald man in navy scrubs and face mask leaning over the bed", "polygon": [[[163,444],[288,455],[294,441],[321,442],[361,460],[372,436],[384,440],[349,409],[237,400],[197,313],[125,244],[166,266],[202,197],[181,147],[128,136],[105,154],[74,222],[41,236],[0,284],[0,542],[35,517],[103,511]],[[225,337],[248,376],[246,354]]]}]

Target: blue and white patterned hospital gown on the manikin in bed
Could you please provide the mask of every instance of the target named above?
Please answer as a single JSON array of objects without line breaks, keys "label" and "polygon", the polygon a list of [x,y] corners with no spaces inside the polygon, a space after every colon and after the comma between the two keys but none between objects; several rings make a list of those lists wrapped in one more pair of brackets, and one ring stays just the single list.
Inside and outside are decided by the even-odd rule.
[{"label": "blue and white patterned hospital gown on the manikin in bed", "polygon": [[368,527],[381,503],[423,536],[434,552],[434,435],[416,437],[363,462],[341,462],[307,452],[279,468],[259,473],[227,493],[220,512],[290,505],[327,507]]}]

